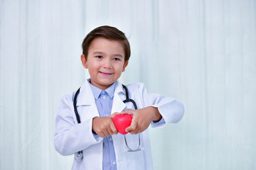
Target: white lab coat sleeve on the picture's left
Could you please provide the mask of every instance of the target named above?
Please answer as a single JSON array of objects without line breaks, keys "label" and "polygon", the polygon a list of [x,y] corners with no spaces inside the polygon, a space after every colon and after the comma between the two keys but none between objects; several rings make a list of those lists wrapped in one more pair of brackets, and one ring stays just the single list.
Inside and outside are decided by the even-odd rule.
[{"label": "white lab coat sleeve on the picture's left", "polygon": [[92,134],[92,118],[76,124],[74,114],[72,97],[63,97],[55,120],[54,143],[55,149],[64,156],[79,152],[102,140]]}]

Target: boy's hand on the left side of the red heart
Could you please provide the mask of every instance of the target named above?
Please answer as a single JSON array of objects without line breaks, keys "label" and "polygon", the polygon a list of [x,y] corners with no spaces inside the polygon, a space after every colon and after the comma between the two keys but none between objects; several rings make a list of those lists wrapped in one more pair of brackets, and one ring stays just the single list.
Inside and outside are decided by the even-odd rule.
[{"label": "boy's hand on the left side of the red heart", "polygon": [[110,135],[117,134],[117,128],[115,128],[112,121],[113,115],[107,117],[95,117],[92,119],[92,130],[100,135],[100,137],[108,137]]}]

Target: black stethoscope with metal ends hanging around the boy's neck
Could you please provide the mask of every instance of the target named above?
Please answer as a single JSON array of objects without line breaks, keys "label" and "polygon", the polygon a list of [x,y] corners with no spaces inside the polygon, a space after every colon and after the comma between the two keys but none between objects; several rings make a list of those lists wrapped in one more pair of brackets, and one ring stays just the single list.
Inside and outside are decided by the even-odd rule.
[{"label": "black stethoscope with metal ends hanging around the boy's neck", "polygon": [[[132,100],[131,98],[129,98],[129,94],[128,94],[128,89],[126,86],[124,86],[122,84],[124,90],[125,90],[125,96],[126,96],[126,99],[123,101],[124,103],[127,103],[127,102],[132,102],[135,110],[137,110],[137,105],[135,103],[134,100]],[[80,88],[78,89],[78,91],[75,92],[75,97],[74,97],[74,102],[73,102],[73,106],[74,106],[74,111],[75,111],[75,116],[78,120],[78,123],[81,123],[80,121],[80,116],[78,114],[78,108],[76,106],[76,103],[77,103],[77,98],[78,98],[78,94],[80,92]],[[126,136],[124,135],[124,141],[125,141],[125,145],[127,147],[127,149],[124,149],[124,152],[137,152],[137,151],[143,151],[144,148],[141,147],[141,139],[140,139],[140,133],[139,133],[139,147],[137,147],[137,149],[131,149],[128,144],[127,144],[127,139],[126,139]],[[76,161],[80,162],[82,160],[82,151],[79,151],[77,153],[75,153],[75,159]]]}]

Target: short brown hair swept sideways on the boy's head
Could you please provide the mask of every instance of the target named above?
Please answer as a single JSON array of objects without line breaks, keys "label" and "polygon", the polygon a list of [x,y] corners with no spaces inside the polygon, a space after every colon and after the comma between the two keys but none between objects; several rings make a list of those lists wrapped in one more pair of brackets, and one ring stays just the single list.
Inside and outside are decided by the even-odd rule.
[{"label": "short brown hair swept sideways on the boy's head", "polygon": [[103,37],[110,40],[118,40],[119,42],[121,42],[124,47],[124,62],[127,62],[129,60],[129,57],[131,55],[131,49],[127,37],[121,30],[118,30],[117,28],[111,26],[100,26],[86,35],[85,39],[82,41],[82,54],[85,55],[86,60],[90,43],[97,37]]}]

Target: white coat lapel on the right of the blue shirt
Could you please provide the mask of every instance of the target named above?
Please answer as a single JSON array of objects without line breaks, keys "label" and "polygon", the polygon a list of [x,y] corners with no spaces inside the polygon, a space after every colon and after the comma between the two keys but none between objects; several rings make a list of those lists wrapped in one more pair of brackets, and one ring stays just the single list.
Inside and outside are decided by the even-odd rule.
[{"label": "white coat lapel on the right of the blue shirt", "polygon": [[125,100],[124,90],[122,88],[122,84],[120,84],[117,81],[117,84],[116,84],[115,90],[114,90],[114,98],[113,98],[111,113],[115,113],[115,112],[121,113],[124,110],[126,105],[123,102],[123,100]]}]

